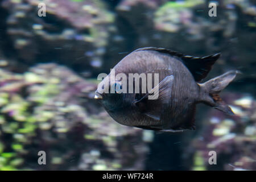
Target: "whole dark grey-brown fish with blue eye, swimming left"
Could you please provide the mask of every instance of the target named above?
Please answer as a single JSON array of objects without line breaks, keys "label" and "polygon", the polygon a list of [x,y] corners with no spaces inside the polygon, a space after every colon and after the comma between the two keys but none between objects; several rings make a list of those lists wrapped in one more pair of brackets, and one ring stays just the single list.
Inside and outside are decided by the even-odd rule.
[{"label": "whole dark grey-brown fish with blue eye, swimming left", "polygon": [[[115,65],[115,76],[124,73],[128,78],[129,73],[158,73],[159,84],[151,90],[147,89],[146,93],[142,93],[141,88],[139,93],[119,93],[118,90],[115,93],[100,93],[98,88],[94,98],[122,125],[174,133],[193,130],[196,104],[200,102],[226,114],[234,114],[218,93],[236,77],[238,71],[229,71],[199,84],[219,57],[220,53],[193,57],[164,48],[137,49]],[[124,80],[111,82],[110,74],[101,84],[122,88]],[[126,82],[129,88],[131,85]],[[155,88],[159,89],[159,97],[149,100]]]}]

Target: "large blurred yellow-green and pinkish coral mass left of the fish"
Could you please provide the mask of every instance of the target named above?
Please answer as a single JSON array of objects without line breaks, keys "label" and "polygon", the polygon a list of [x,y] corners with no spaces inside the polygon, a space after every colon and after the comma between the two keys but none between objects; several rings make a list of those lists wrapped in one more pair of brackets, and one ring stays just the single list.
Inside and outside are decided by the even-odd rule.
[{"label": "large blurred yellow-green and pinkish coral mass left of the fish", "polygon": [[143,169],[147,135],[99,109],[92,81],[40,64],[23,74],[0,69],[0,85],[1,170]]}]

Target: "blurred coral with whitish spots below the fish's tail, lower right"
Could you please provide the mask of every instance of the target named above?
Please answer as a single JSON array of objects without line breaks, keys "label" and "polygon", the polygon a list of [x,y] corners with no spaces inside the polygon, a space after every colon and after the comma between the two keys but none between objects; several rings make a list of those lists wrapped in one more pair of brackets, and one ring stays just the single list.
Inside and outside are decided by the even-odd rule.
[{"label": "blurred coral with whitish spots below the fish's tail, lower right", "polygon": [[[189,169],[256,169],[256,101],[248,94],[229,94],[224,98],[232,103],[230,107],[236,115],[226,118],[218,111],[209,114],[199,137],[187,148],[187,160],[192,159]],[[216,151],[216,165],[208,163],[209,151]]]}]

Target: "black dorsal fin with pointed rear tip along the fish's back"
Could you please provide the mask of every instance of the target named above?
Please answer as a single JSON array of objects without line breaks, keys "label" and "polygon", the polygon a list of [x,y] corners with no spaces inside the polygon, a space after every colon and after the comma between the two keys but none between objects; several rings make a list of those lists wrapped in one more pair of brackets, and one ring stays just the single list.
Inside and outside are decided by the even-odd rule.
[{"label": "black dorsal fin with pointed rear tip along the fish's back", "polygon": [[203,78],[207,77],[210,69],[212,69],[212,65],[221,55],[220,53],[216,53],[214,55],[204,57],[195,57],[183,55],[182,53],[172,51],[170,49],[156,47],[145,47],[137,49],[135,51],[157,51],[161,53],[166,53],[171,56],[179,57],[183,64],[185,64],[188,70],[192,73],[196,81],[201,81],[203,80]]}]

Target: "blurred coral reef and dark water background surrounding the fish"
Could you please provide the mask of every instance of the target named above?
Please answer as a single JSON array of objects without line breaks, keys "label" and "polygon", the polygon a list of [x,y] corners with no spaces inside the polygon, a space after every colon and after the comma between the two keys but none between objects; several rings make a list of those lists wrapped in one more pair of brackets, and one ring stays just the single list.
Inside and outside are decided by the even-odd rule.
[{"label": "blurred coral reef and dark water background surrounding the fish", "polygon": [[[0,1],[0,170],[256,170],[255,3]],[[199,105],[196,130],[182,134],[114,122],[93,100],[97,75],[141,47],[221,52],[204,81],[242,72],[221,93],[236,115]]]}]

